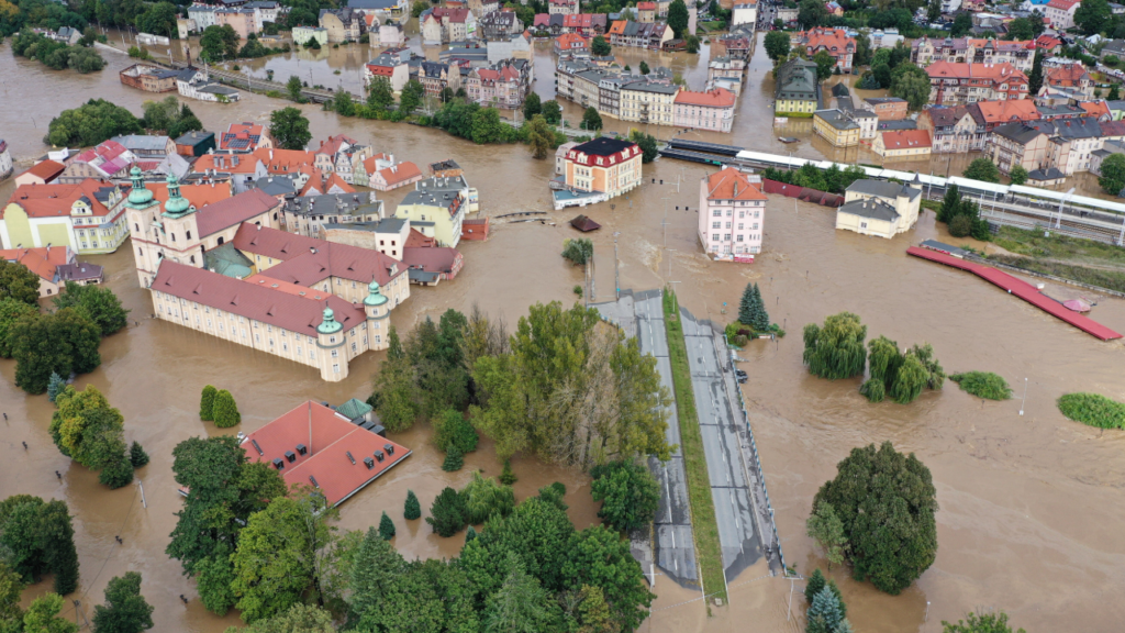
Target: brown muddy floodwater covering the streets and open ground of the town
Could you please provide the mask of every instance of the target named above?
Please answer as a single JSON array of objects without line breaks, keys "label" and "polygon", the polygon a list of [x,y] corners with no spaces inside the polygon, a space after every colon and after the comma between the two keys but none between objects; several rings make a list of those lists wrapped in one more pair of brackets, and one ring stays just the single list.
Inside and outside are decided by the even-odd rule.
[{"label": "brown muddy floodwater covering the streets and open ground of the town", "polygon": [[[536,89],[546,97],[551,92],[551,62],[537,51]],[[50,118],[61,109],[104,97],[140,112],[141,102],[153,98],[119,83],[117,72],[128,65],[126,57],[109,53],[106,57],[109,65],[101,73],[78,75],[45,70],[0,46],[0,102],[6,106],[0,108],[0,137],[9,142],[22,167],[47,150],[40,139]],[[666,57],[662,63],[673,65],[690,81],[705,72],[704,59],[659,57]],[[351,66],[333,75],[331,66],[317,68],[322,70],[314,70],[314,77],[323,73],[323,81],[317,82],[324,84],[357,71]],[[759,47],[740,98],[736,133],[701,137],[782,151],[765,109],[772,92],[771,80],[763,79],[768,68]],[[272,109],[287,104],[244,93],[242,101],[230,106],[190,105],[209,130],[217,131],[235,122],[266,122]],[[532,160],[523,146],[477,146],[434,130],[340,119],[315,106],[302,108],[314,139],[344,133],[420,164],[457,160],[479,189],[484,214],[548,212],[547,223],[497,221],[488,242],[464,243],[464,271],[451,283],[413,288],[410,301],[393,315],[399,329],[448,307],[469,310],[474,302],[494,315],[503,314],[512,324],[531,303],[574,301],[572,288],[583,282],[583,275],[558,253],[562,240],[575,234],[566,221],[577,212],[550,211],[546,180],[552,172],[551,161]],[[568,116],[575,113],[567,106]],[[672,133],[657,127],[651,132],[662,137]],[[807,158],[826,153],[808,135],[794,150]],[[852,447],[889,439],[900,451],[915,452],[933,472],[940,505],[938,553],[935,564],[899,596],[881,594],[834,570],[831,576],[840,582],[857,631],[936,632],[942,619],[980,608],[1002,608],[1014,624],[1032,632],[1119,630],[1125,619],[1125,603],[1119,599],[1119,588],[1125,587],[1120,538],[1125,435],[1068,421],[1054,400],[1074,391],[1125,400],[1125,344],[1100,342],[971,275],[908,258],[904,251],[910,243],[927,238],[951,240],[935,226],[933,212],[922,214],[915,231],[882,240],[835,231],[832,213],[822,207],[773,198],[765,220],[766,252],[756,264],[708,261],[699,252],[694,209],[699,179],[711,169],[660,160],[645,166],[646,184],[630,196],[583,209],[603,225],[591,235],[594,298],[613,296],[615,250],[621,287],[670,285],[699,318],[731,319],[746,283],[762,286],[772,319],[790,335],[776,342],[755,341],[741,353],[747,360],[741,367],[749,373],[742,389],[786,562],[802,573],[824,567],[804,536],[813,494]],[[953,169],[957,169],[956,161]],[[665,184],[654,185],[651,178]],[[10,180],[0,184],[0,198],[7,199],[12,189]],[[385,199],[395,204],[403,195],[390,193]],[[616,249],[615,232],[620,233]],[[57,452],[47,435],[52,408],[46,396],[26,396],[17,390],[15,366],[8,360],[0,362],[0,409],[8,413],[0,434],[0,497],[30,493],[68,501],[75,516],[82,565],[75,597],[87,616],[101,601],[111,577],[137,570],[144,576],[145,596],[156,607],[158,630],[223,631],[237,624],[237,616],[208,614],[194,582],[163,553],[173,512],[181,507],[171,473],[172,448],[195,435],[237,430],[217,431],[198,420],[200,387],[210,383],[230,390],[243,414],[241,430],[251,431],[306,399],[366,398],[380,355],[368,354],[354,362],[348,381],[324,383],[308,368],[146,319],[151,303],[137,287],[128,244],[115,255],[89,259],[106,266],[107,284],[133,310],[138,324],[102,342],[101,367],[81,376],[78,386],[94,384],[106,392],[125,414],[127,437],[140,440],[152,455],[152,463],[138,471],[147,508],[142,507],[137,487],[109,491],[98,484],[96,474],[72,466]],[[1045,292],[1064,298],[1089,296],[1052,284]],[[1096,301],[1091,316],[1125,331],[1125,301]],[[729,304],[727,314],[724,303]],[[981,402],[946,383],[944,391],[926,392],[908,407],[870,404],[858,394],[858,381],[809,376],[801,364],[801,328],[843,310],[860,314],[870,337],[885,335],[903,347],[933,344],[950,373],[980,369],[1005,376],[1016,398]],[[471,469],[498,473],[487,443],[467,457],[465,470],[442,472],[428,437],[424,425],[395,436],[414,455],[344,503],[341,527],[372,525],[384,509],[400,517],[406,489],[417,492],[428,506],[442,487],[464,483]],[[28,451],[21,442],[28,443]],[[585,527],[597,520],[588,478],[582,473],[531,458],[516,460],[514,466],[520,498],[551,481],[562,481],[575,524]],[[56,470],[62,482],[55,479]],[[460,547],[458,537],[438,538],[420,521],[404,526],[397,520],[396,545],[407,556],[452,556]],[[114,540],[118,535],[124,545]],[[48,588],[43,582],[28,589],[25,601]],[[759,562],[730,580],[730,604],[712,607],[709,616],[698,590],[657,576],[658,598],[642,630],[741,632],[754,623],[754,630],[796,633],[803,630],[804,610],[800,585],[796,589],[793,617],[788,618],[790,583],[768,578]],[[180,594],[191,598],[189,605],[180,603]],[[74,609],[68,614],[73,616]]]}]

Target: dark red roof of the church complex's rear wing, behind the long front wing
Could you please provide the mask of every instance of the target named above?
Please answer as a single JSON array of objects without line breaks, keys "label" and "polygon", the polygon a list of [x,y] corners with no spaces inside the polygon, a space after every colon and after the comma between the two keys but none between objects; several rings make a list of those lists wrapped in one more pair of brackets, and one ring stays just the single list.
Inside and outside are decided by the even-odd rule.
[{"label": "dark red roof of the church complex's rear wing, behind the long front wing", "polygon": [[376,250],[326,242],[269,226],[259,229],[253,224],[243,224],[233,241],[234,248],[241,251],[281,260],[281,264],[262,270],[261,275],[305,287],[328,277],[362,284],[375,279],[380,286],[386,286],[394,279],[392,268],[396,269],[395,277],[405,271],[397,266],[397,261]]}]

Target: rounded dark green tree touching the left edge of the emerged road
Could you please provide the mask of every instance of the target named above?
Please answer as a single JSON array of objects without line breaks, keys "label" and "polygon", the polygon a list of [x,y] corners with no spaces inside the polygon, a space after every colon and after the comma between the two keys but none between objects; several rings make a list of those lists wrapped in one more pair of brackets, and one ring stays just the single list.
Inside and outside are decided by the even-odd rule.
[{"label": "rounded dark green tree touching the left edge of the emerged road", "polygon": [[628,462],[610,462],[590,471],[591,493],[602,502],[597,516],[618,532],[639,529],[652,523],[660,501],[660,485],[648,469]]}]

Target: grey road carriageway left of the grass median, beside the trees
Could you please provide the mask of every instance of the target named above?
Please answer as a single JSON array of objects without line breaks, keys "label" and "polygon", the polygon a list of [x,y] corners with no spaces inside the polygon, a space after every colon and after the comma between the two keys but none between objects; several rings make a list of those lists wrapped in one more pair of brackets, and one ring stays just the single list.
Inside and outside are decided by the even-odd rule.
[{"label": "grey road carriageway left of the grass median, beside the trees", "polygon": [[[660,372],[660,384],[675,393],[672,386],[672,365],[668,362],[668,339],[664,329],[664,311],[660,293],[648,291],[637,295],[622,293],[616,303],[595,304],[603,318],[621,327],[627,336],[636,336],[641,351],[656,357]],[[675,403],[668,409],[668,444],[678,446],[680,420]],[[691,509],[687,502],[687,478],[684,472],[683,454],[676,449],[672,458],[660,462],[649,458],[649,470],[660,484],[660,505],[656,511],[656,542],[652,550],[656,565],[681,585],[699,585],[695,563],[695,541],[692,535]],[[634,545],[633,556],[638,558],[648,573],[644,554]]]}]

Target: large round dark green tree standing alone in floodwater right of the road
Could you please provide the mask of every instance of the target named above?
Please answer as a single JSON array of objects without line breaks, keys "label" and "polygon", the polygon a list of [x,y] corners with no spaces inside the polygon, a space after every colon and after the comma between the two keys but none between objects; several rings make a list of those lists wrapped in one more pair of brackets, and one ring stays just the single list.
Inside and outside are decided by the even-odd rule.
[{"label": "large round dark green tree standing alone in floodwater right of the road", "polygon": [[836,510],[855,578],[897,595],[934,564],[937,553],[937,491],[929,469],[886,442],[879,449],[874,444],[853,448],[837,471],[813,507],[827,502]]}]

